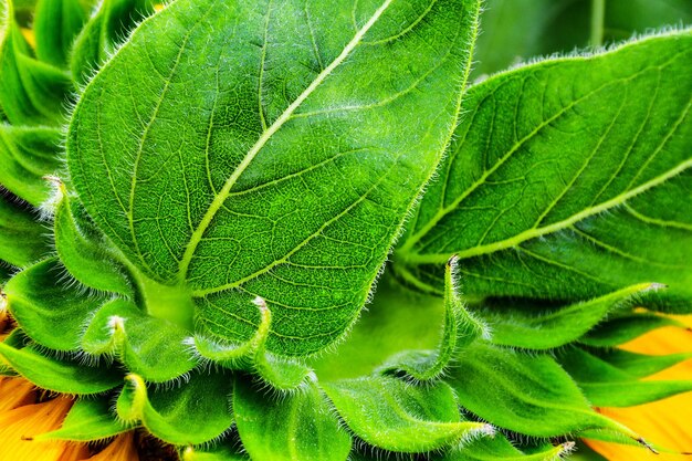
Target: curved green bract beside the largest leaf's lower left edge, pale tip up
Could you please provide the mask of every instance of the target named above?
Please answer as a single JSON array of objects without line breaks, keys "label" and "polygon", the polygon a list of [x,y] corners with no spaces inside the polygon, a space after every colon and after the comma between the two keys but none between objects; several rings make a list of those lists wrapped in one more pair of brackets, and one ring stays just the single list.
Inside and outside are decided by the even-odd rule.
[{"label": "curved green bract beside the largest leaf's lower left edge, pale tip up", "polygon": [[[125,268],[108,254],[83,209],[63,184],[62,200],[54,217],[55,249],[60,261],[76,280],[92,289],[132,296]],[[78,221],[77,221],[78,219]],[[80,223],[82,226],[80,226]],[[101,238],[102,239],[102,238]]]}]

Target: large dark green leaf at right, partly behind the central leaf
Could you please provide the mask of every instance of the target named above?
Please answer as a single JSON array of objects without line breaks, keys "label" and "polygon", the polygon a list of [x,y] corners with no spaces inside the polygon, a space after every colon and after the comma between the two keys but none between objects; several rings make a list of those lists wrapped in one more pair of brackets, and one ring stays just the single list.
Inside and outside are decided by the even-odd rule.
[{"label": "large dark green leaf at right, partly behind the central leaf", "polygon": [[439,291],[583,300],[659,282],[692,303],[692,32],[545,61],[472,87],[449,156],[396,253]]}]

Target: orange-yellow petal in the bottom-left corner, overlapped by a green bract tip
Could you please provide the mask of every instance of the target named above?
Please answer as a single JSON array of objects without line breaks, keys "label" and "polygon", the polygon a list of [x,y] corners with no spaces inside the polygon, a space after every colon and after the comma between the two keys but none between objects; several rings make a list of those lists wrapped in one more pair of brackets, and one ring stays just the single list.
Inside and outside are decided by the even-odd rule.
[{"label": "orange-yellow petal in the bottom-left corner, overlapped by a green bract tip", "polygon": [[72,400],[59,397],[0,412],[0,460],[76,461],[87,457],[84,444],[31,440],[35,434],[57,429],[71,406]]}]

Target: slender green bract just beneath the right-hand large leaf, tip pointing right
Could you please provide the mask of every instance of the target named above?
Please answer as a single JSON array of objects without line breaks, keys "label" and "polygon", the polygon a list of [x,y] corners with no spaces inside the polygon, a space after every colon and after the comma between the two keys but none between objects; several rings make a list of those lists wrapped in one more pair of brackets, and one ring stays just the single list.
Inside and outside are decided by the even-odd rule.
[{"label": "slender green bract just beneath the right-hand large leaf, tip pointing right", "polygon": [[549,349],[573,343],[609,312],[616,311],[638,293],[647,292],[657,284],[639,284],[618,290],[590,301],[557,308],[525,308],[493,305],[479,311],[479,315],[492,325],[492,343],[526,349]]}]

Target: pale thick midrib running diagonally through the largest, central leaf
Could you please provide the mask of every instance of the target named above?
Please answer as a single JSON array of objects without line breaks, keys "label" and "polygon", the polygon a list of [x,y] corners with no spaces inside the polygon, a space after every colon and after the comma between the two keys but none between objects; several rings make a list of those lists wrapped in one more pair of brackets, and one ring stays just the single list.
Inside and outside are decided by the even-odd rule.
[{"label": "pale thick midrib running diagonally through the largest, central leaf", "polygon": [[226,199],[229,197],[231,189],[240,178],[240,176],[248,169],[252,160],[262,150],[264,145],[271,139],[271,137],[291,118],[291,115],[305,102],[305,99],[324,82],[324,80],[332,74],[332,72],[338,67],[346,57],[353,52],[353,50],[361,42],[368,30],[379,20],[385,10],[389,7],[392,0],[385,0],[385,2],[375,11],[365,25],[356,32],[354,38],[346,44],[342,53],[324,70],[301,93],[301,95],[281,114],[281,116],[260,136],[258,142],[250,148],[245,157],[240,165],[233,170],[231,176],[226,180],[221,190],[214,196],[211,201],[205,217],[200,221],[199,226],[192,232],[190,240],[186,247],[185,253],[178,265],[178,281],[184,284],[187,277],[190,262],[195,256],[195,251],[202,240],[202,235],[209,228],[212,219],[221,209]]}]

